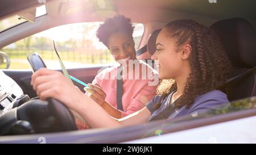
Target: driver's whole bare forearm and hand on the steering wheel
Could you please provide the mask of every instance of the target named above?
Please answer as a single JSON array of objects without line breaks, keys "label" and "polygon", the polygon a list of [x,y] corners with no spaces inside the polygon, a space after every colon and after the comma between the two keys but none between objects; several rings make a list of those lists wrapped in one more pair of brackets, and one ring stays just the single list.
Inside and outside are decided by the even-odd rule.
[{"label": "driver's whole bare forearm and hand on the steering wheel", "polygon": [[[121,123],[109,116],[94,100],[85,95],[63,76],[46,68],[39,69],[31,77],[31,85],[42,100],[54,98],[77,112],[90,127],[121,127]],[[90,86],[93,87],[93,86]],[[99,115],[100,114],[100,115]]]}]

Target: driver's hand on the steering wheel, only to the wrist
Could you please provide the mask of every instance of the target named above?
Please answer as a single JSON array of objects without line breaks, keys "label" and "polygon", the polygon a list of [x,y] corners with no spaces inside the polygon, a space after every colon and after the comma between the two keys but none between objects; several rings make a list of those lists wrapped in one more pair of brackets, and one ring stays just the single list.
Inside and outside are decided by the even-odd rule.
[{"label": "driver's hand on the steering wheel, only to the wrist", "polygon": [[55,98],[74,110],[83,95],[61,72],[46,68],[32,74],[31,85],[41,100]]}]

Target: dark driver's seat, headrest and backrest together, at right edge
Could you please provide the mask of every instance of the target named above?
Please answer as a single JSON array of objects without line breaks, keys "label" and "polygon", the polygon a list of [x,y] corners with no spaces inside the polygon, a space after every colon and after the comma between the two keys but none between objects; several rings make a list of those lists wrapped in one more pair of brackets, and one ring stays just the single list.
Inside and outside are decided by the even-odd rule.
[{"label": "dark driver's seat, headrest and backrest together, at right edge", "polygon": [[[233,76],[256,66],[256,31],[242,18],[220,20],[210,26],[218,35],[232,62]],[[231,85],[230,100],[256,95],[256,73],[252,72]]]}]

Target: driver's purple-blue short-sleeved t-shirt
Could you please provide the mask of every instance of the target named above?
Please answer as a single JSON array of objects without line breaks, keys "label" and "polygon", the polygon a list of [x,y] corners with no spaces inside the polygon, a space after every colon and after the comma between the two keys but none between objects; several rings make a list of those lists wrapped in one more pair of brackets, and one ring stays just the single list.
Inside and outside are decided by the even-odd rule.
[{"label": "driver's purple-blue short-sleeved t-shirt", "polygon": [[[162,111],[166,109],[170,109],[170,114],[168,115],[168,119],[173,119],[177,118],[180,116],[185,116],[185,115],[191,115],[194,113],[201,113],[209,110],[216,110],[220,106],[225,106],[226,104],[230,104],[228,98],[226,97],[226,94],[223,93],[220,90],[213,90],[209,91],[208,93],[205,93],[203,95],[200,95],[195,98],[195,101],[189,108],[186,108],[185,105],[182,106],[181,108],[176,108],[175,107],[175,102],[170,104],[170,99],[172,97],[172,94],[174,94],[175,91],[170,93],[163,102],[161,103],[161,106],[158,110],[154,111],[153,107],[156,103],[160,103],[162,100],[161,95],[156,95],[154,98],[150,100],[146,104],[146,107],[148,110],[151,112],[150,118],[148,118],[148,122],[151,120],[161,118],[161,115],[164,115]],[[168,113],[168,111],[167,111]],[[162,118],[166,118],[166,116],[162,116]]]}]

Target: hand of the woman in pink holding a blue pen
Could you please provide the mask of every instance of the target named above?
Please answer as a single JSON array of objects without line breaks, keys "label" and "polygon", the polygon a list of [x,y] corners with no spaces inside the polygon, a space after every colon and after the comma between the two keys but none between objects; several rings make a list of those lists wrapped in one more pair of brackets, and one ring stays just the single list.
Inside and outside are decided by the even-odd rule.
[{"label": "hand of the woman in pink holding a blue pen", "polygon": [[90,88],[84,87],[84,90],[90,93],[89,97],[101,106],[105,102],[105,91],[102,90],[101,86],[98,85],[98,83],[96,83],[95,85],[89,83],[88,86]]}]

